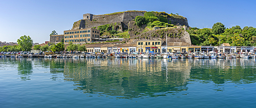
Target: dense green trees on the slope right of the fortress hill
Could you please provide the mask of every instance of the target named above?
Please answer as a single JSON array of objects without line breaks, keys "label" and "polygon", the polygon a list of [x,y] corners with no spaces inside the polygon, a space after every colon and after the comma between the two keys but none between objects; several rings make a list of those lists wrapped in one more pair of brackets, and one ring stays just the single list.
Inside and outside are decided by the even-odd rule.
[{"label": "dense green trees on the slope right of the fortress hill", "polygon": [[229,43],[231,46],[256,46],[256,28],[239,25],[232,28],[225,28],[221,22],[217,22],[212,29],[190,28],[187,30],[193,45],[217,46],[222,43]]}]

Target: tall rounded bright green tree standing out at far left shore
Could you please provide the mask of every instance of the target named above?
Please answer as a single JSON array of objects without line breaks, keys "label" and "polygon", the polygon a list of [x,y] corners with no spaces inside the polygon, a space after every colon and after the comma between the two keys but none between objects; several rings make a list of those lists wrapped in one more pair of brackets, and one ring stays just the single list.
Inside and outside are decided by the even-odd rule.
[{"label": "tall rounded bright green tree standing out at far left shore", "polygon": [[29,36],[21,36],[17,40],[18,45],[22,48],[23,51],[29,51],[32,48],[33,40]]}]

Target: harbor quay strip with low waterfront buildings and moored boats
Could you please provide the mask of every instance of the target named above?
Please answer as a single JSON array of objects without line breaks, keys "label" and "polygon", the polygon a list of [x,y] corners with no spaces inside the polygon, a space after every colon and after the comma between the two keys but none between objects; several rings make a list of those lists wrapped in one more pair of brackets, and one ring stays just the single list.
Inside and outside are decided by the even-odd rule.
[{"label": "harbor quay strip with low waterfront buildings and moored boats", "polygon": [[[164,43],[162,40],[139,40],[136,44],[86,44],[86,51],[44,52],[44,55],[5,55],[13,58],[164,58],[217,59],[255,58],[254,46],[188,46],[184,42]],[[31,51],[32,52],[32,51]],[[37,51],[38,52],[38,51]]]}]

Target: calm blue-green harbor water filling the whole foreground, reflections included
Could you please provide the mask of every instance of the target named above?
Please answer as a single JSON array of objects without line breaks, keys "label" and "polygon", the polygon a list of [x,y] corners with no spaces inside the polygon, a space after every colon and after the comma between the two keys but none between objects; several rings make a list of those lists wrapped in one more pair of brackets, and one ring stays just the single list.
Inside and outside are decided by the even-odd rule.
[{"label": "calm blue-green harbor water filling the whole foreground, reflections included", "polygon": [[0,107],[255,107],[255,59],[0,58]]}]

